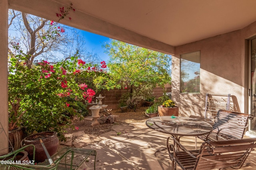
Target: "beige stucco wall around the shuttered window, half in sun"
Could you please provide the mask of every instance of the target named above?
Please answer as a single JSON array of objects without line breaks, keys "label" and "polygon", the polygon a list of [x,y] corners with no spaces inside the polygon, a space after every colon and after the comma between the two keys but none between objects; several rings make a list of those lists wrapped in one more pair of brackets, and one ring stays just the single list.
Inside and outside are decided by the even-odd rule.
[{"label": "beige stucco wall around the shuttered window, half in sun", "polygon": [[[244,29],[176,47],[172,57],[172,99],[180,115],[204,115],[205,94],[231,94],[235,111],[245,112],[245,39],[256,34],[256,22]],[[201,51],[200,94],[180,93],[180,55]]]}]

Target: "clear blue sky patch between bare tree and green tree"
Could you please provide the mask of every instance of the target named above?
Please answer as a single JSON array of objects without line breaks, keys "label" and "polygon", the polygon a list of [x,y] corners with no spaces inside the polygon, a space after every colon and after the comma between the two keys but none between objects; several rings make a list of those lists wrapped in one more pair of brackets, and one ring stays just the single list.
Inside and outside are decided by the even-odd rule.
[{"label": "clear blue sky patch between bare tree and green tree", "polygon": [[102,48],[102,45],[104,43],[110,43],[111,39],[108,37],[104,37],[102,35],[90,33],[87,31],[80,30],[80,33],[84,36],[84,39],[86,41],[86,47],[88,48],[89,52],[94,52],[99,55],[99,57],[104,60],[108,61],[109,56],[104,53],[104,48]]}]

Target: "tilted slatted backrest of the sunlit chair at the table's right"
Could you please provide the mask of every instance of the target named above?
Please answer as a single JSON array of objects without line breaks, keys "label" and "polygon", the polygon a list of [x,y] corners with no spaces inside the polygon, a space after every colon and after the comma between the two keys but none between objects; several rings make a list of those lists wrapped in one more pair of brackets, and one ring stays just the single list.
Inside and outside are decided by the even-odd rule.
[{"label": "tilted slatted backrest of the sunlit chair at the table's right", "polygon": [[248,119],[252,120],[253,116],[220,109],[214,120],[213,132],[217,133],[220,129],[226,128],[221,130],[220,133],[236,139],[242,139],[246,130],[245,127],[248,127]]}]

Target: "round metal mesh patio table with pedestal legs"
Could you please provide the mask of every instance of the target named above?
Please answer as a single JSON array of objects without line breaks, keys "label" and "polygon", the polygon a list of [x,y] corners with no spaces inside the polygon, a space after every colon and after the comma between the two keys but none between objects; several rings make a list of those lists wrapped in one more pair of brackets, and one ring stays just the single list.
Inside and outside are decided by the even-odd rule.
[{"label": "round metal mesh patio table with pedestal legs", "polygon": [[[146,125],[155,131],[172,135],[177,141],[180,141],[182,136],[206,135],[213,130],[212,125],[205,121],[180,116],[152,117],[146,121]],[[157,150],[156,152],[165,149]],[[178,148],[176,147],[176,149]],[[156,156],[156,152],[154,156]]]}]

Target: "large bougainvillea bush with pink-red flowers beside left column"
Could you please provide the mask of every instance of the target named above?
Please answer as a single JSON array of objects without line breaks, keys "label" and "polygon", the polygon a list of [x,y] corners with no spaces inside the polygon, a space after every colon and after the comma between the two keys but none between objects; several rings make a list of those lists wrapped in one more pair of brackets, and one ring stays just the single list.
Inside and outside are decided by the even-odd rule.
[{"label": "large bougainvillea bush with pink-red flowers beside left column", "polygon": [[86,82],[76,80],[104,74],[105,65],[92,66],[75,55],[56,64],[42,61],[29,68],[25,59],[24,55],[10,57],[9,130],[20,126],[27,135],[57,131],[63,139],[62,132],[70,126],[70,117],[81,115],[95,95]]}]

